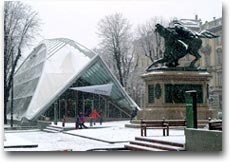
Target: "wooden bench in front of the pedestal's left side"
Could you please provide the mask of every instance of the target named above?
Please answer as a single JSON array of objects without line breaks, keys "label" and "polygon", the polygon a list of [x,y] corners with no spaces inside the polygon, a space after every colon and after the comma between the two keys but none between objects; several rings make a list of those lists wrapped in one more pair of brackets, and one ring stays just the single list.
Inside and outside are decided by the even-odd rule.
[{"label": "wooden bench in front of the pedestal's left side", "polygon": [[162,129],[163,130],[163,136],[168,136],[169,132],[169,126],[165,122],[165,120],[162,121],[150,121],[150,120],[143,120],[141,119],[141,136],[147,136],[147,129]]}]

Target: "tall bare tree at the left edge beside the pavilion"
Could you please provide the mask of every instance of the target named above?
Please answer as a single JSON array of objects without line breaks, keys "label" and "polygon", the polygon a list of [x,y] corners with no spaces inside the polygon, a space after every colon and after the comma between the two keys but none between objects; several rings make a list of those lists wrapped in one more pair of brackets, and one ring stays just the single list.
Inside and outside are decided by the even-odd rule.
[{"label": "tall bare tree at the left edge beside the pavilion", "polygon": [[31,45],[38,34],[40,20],[37,12],[19,1],[4,3],[4,123],[7,123],[7,103],[13,75],[24,47]]}]

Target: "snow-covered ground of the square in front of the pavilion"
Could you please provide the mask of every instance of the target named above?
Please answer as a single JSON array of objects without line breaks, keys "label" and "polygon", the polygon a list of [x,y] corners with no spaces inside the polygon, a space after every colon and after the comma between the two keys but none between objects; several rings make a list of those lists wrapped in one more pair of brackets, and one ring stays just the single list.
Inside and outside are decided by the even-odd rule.
[{"label": "snow-covered ground of the square in front of the pavilion", "polygon": [[[87,151],[97,148],[122,148],[124,144],[140,136],[139,128],[126,128],[129,121],[104,122],[88,129],[75,129],[63,133],[46,133],[39,130],[5,131],[4,146],[37,144],[34,148],[4,148],[5,151]],[[61,126],[61,123],[58,123]],[[66,127],[74,128],[74,123]],[[170,130],[169,137],[162,136],[162,130],[148,130],[148,138],[184,143],[183,130]]]}]

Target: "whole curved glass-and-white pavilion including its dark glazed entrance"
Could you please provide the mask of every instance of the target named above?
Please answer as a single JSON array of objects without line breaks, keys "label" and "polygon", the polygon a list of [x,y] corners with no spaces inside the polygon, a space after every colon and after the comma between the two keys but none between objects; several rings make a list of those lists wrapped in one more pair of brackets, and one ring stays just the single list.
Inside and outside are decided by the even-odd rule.
[{"label": "whole curved glass-and-white pavilion including its dark glazed entrance", "polygon": [[[112,85],[109,96],[73,90],[105,84]],[[88,115],[93,108],[103,109],[104,118],[128,118],[139,109],[98,54],[66,38],[42,41],[21,64],[14,76],[13,105],[18,121],[52,118],[55,106],[60,120],[80,111]]]}]

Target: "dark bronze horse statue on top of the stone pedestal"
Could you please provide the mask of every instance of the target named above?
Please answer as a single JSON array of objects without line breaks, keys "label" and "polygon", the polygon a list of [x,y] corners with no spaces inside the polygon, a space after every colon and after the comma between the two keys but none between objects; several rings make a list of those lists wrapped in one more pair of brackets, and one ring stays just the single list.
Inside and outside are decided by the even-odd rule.
[{"label": "dark bronze horse statue on top of the stone pedestal", "polygon": [[165,63],[168,67],[176,67],[179,65],[179,59],[187,54],[191,54],[195,57],[195,59],[190,63],[190,67],[194,67],[195,63],[201,58],[198,52],[202,45],[201,38],[218,37],[209,31],[203,31],[195,34],[179,23],[175,24],[174,28],[165,28],[160,24],[156,24],[155,32],[159,33],[159,35],[164,38],[164,57],[154,61],[148,69],[151,69],[159,63]]}]

